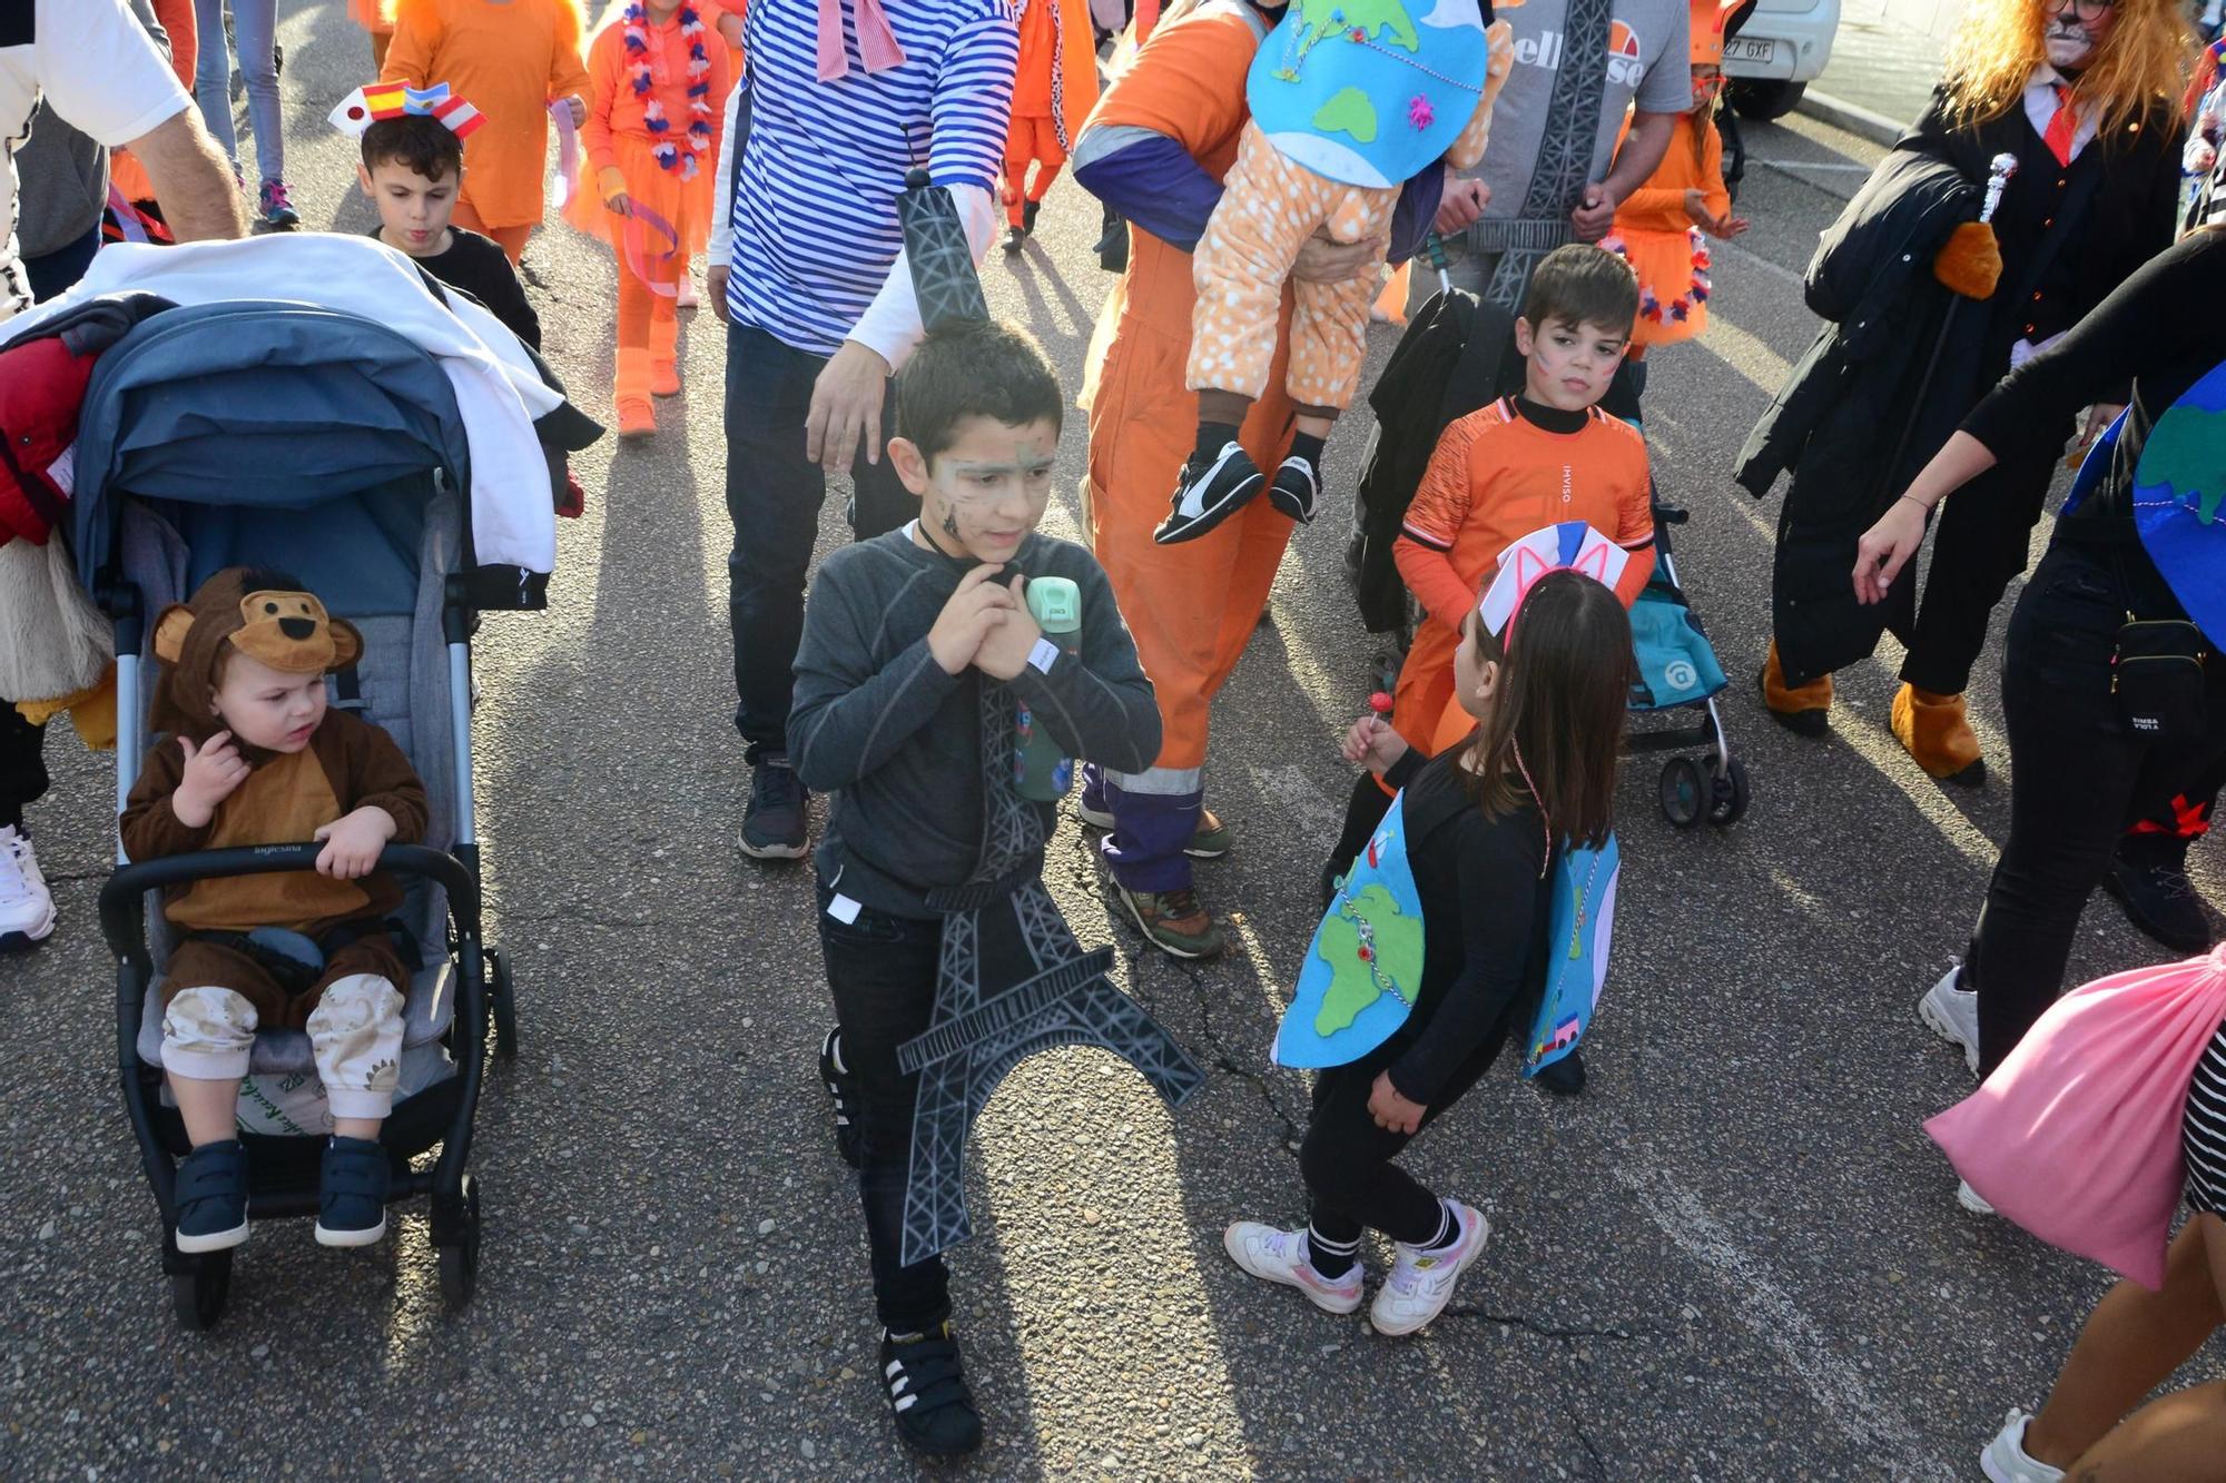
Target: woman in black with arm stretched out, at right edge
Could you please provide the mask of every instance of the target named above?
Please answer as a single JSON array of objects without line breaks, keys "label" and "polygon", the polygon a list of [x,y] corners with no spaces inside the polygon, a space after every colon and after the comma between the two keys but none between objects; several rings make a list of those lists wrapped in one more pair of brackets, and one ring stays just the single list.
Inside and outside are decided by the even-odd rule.
[{"label": "woman in black with arm stretched out, at right edge", "polygon": [[[1863,534],[1856,557],[1856,599],[1881,601],[1941,499],[1997,456],[2019,452],[2035,428],[2055,430],[2110,387],[2133,383],[2108,472],[2077,512],[2057,519],[2048,554],[2010,617],[2001,666],[2010,842],[1963,966],[1919,1004],[1925,1024],[1961,1044],[1981,1078],[2064,986],[2079,911],[2126,824],[2226,755],[2226,661],[2213,657],[2204,666],[2202,724],[2179,737],[2135,730],[2112,690],[2119,628],[2128,619],[2188,617],[2135,534],[2133,472],[2157,416],[2226,361],[2226,323],[2213,312],[2219,283],[2226,283],[2226,232],[2199,229],[2150,258],[2064,341],[2010,372],[1979,403]],[[2226,635],[2206,637],[2217,646]]]}]

